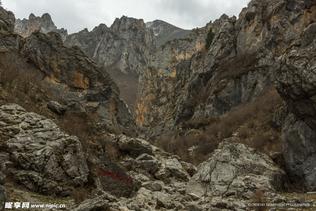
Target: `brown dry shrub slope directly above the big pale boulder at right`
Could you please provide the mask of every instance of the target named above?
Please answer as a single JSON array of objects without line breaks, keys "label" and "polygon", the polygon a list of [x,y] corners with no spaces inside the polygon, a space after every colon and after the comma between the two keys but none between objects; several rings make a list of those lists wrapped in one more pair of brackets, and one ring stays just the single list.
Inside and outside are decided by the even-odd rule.
[{"label": "brown dry shrub slope directly above the big pale boulder at right", "polygon": [[[168,132],[156,141],[155,146],[197,165],[228,138],[230,143],[246,144],[264,154],[281,152],[274,161],[283,167],[281,134],[272,126],[273,114],[282,102],[272,85],[257,100],[235,107],[222,117],[200,117],[181,124],[185,130],[201,129],[203,133],[172,138]],[[231,138],[234,133],[237,137]],[[187,150],[191,146],[198,146],[194,156]]]}]

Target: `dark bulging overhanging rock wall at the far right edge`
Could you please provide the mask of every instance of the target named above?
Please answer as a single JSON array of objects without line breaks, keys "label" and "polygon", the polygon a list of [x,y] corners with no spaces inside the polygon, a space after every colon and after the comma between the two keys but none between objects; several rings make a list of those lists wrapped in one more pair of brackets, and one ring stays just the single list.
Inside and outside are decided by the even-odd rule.
[{"label": "dark bulging overhanging rock wall at the far right edge", "polygon": [[289,107],[282,129],[285,168],[296,188],[316,191],[316,23],[274,65],[276,90]]}]

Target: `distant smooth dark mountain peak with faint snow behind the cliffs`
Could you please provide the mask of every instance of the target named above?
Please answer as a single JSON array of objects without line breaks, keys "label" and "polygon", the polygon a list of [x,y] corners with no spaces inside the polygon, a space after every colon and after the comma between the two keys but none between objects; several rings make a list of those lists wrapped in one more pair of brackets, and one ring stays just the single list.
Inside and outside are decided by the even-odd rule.
[{"label": "distant smooth dark mountain peak with faint snow behind the cliffs", "polygon": [[161,20],[146,22],[146,28],[154,30],[158,46],[161,46],[165,44],[166,41],[173,40],[174,38],[184,38],[184,36],[190,32],[190,30],[173,26],[170,23]]}]

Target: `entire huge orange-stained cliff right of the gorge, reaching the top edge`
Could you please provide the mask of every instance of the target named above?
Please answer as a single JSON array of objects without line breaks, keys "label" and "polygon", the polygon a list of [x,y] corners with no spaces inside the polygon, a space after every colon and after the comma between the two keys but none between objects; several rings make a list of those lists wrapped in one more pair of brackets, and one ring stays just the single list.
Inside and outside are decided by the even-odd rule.
[{"label": "entire huge orange-stained cliff right of the gorge, reaching the top edge", "polygon": [[[216,35],[206,55],[198,52],[203,45],[179,51],[171,41],[160,47],[155,61],[140,75],[134,113],[142,125],[140,136],[153,140],[167,130],[179,133],[182,121],[223,115],[260,96],[274,83],[275,59],[297,40],[312,5],[310,0],[252,0],[238,19],[223,15],[211,24]],[[183,52],[181,57],[178,52]],[[195,96],[199,100],[192,103]]]}]

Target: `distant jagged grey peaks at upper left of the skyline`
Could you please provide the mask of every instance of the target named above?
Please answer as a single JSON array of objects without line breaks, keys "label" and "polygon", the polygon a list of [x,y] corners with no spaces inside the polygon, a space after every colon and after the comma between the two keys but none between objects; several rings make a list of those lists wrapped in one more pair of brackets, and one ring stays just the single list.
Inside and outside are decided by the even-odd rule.
[{"label": "distant jagged grey peaks at upper left of the skyline", "polygon": [[21,36],[27,37],[35,30],[39,30],[45,34],[48,32],[58,32],[63,40],[68,35],[67,29],[57,29],[48,13],[43,14],[41,17],[36,17],[33,13],[31,13],[28,19],[24,18],[23,20],[15,20],[14,31]]}]

